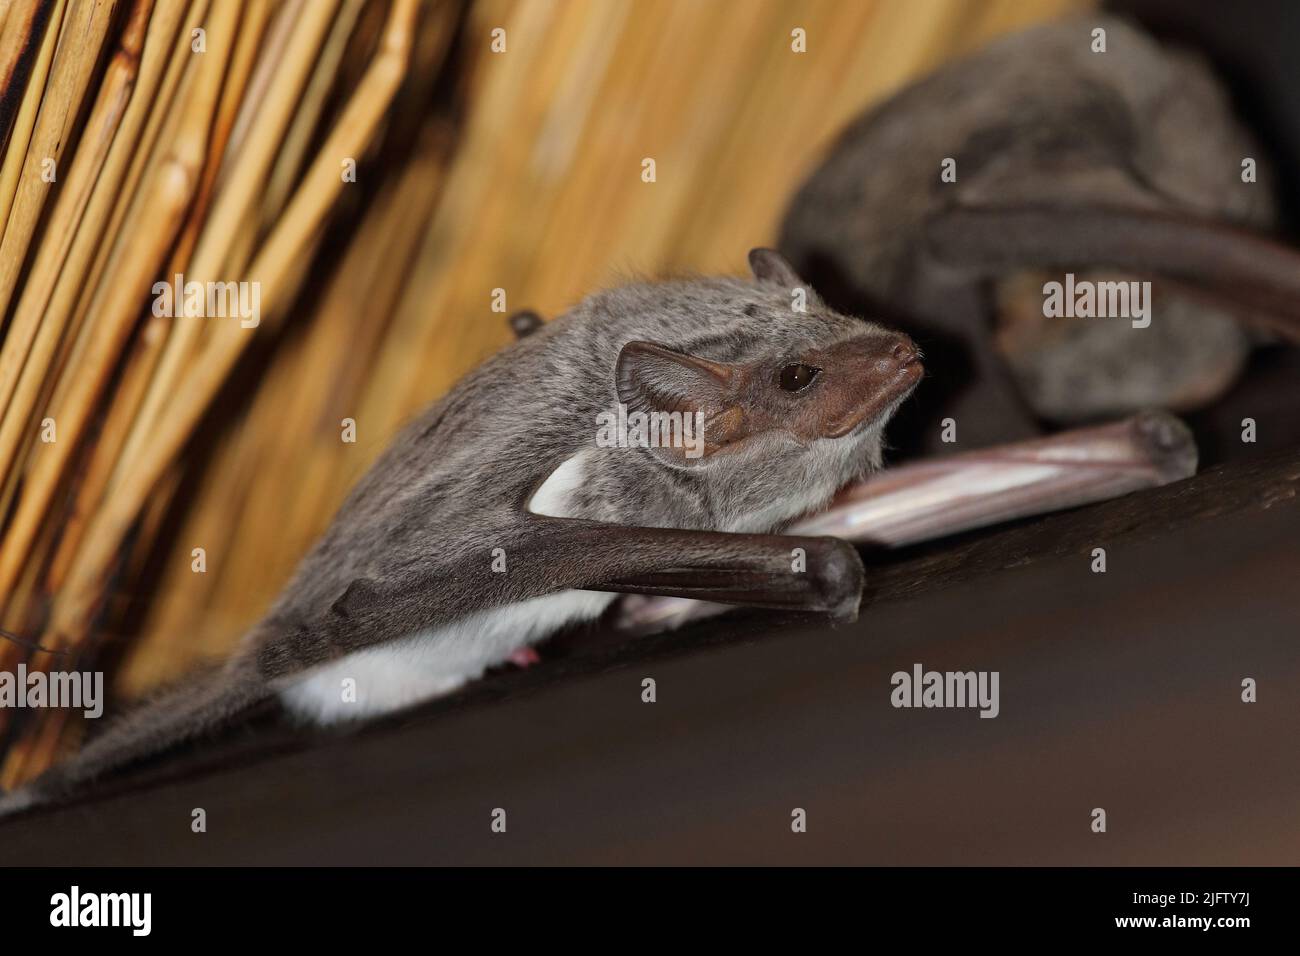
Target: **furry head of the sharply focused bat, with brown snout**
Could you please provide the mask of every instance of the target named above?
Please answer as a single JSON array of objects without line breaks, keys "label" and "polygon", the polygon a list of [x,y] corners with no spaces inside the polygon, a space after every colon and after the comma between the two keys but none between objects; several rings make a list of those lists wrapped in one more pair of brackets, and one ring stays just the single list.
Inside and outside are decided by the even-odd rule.
[{"label": "furry head of the sharply focused bat, with brown snout", "polygon": [[826,307],[779,254],[749,261],[753,282],[682,284],[692,313],[627,341],[614,378],[638,460],[703,485],[714,527],[759,531],[879,466],[922,364],[906,336]]}]

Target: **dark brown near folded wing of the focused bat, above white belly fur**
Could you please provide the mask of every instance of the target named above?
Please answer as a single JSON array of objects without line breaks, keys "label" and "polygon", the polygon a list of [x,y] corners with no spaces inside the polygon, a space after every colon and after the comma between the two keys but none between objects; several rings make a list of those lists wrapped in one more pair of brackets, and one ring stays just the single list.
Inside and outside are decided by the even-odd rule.
[{"label": "dark brown near folded wing of the focused bat, above white belly fur", "polygon": [[412,563],[352,580],[322,619],[268,622],[256,641],[266,682],[464,615],[571,588],[694,597],[857,617],[862,559],[833,537],[640,528],[528,514],[494,561]]}]

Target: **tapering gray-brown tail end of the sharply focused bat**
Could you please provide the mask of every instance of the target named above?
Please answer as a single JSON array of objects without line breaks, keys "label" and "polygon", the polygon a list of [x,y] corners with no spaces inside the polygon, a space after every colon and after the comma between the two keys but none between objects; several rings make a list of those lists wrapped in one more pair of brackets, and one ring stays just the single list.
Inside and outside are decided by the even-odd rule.
[{"label": "tapering gray-brown tail end of the sharply focused bat", "polygon": [[202,672],[124,714],[31,784],[0,796],[0,818],[61,801],[105,774],[203,736],[269,695],[243,659]]}]

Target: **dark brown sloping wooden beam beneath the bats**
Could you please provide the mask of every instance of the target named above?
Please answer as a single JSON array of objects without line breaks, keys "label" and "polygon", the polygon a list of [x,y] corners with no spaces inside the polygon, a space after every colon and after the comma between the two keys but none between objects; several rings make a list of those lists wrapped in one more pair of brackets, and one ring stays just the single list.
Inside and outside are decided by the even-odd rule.
[{"label": "dark brown sloping wooden beam beneath the bats", "polygon": [[[1300,451],[1238,460],[868,555],[852,627],[590,631],[358,734],[268,717],[0,825],[0,861],[1297,864],[1297,488]],[[915,662],[1000,671],[1001,715],[892,708]]]}]

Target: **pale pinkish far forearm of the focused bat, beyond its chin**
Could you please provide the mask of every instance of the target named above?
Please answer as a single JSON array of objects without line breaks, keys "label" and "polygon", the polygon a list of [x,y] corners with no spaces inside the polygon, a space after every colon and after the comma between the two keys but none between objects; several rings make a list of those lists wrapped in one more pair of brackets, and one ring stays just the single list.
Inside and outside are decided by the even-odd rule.
[{"label": "pale pinkish far forearm of the focused bat, beyond its chin", "polygon": [[[1000,522],[1079,507],[1191,477],[1191,429],[1167,412],[1044,438],[928,458],[849,485],[831,506],[786,528],[867,548],[904,548]],[[616,626],[662,631],[727,610],[688,598],[629,597]]]}]

